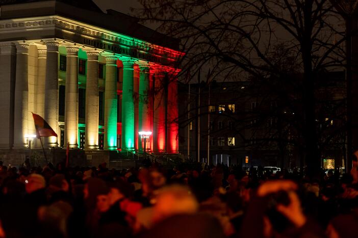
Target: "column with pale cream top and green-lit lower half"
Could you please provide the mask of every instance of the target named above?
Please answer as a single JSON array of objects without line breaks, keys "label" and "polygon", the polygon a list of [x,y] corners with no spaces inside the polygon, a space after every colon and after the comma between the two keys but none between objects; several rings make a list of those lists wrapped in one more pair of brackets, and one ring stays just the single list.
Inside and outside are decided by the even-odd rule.
[{"label": "column with pale cream top and green-lit lower half", "polygon": [[105,150],[117,149],[117,57],[106,57]]}]

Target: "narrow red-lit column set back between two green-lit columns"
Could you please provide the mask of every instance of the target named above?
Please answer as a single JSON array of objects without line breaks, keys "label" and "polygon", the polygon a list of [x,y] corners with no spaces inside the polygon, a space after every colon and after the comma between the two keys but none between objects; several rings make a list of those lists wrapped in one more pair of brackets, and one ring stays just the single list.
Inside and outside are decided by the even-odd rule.
[{"label": "narrow red-lit column set back between two green-lit columns", "polygon": [[139,148],[139,66],[134,65],[133,75],[133,100],[134,100],[134,148]]}]

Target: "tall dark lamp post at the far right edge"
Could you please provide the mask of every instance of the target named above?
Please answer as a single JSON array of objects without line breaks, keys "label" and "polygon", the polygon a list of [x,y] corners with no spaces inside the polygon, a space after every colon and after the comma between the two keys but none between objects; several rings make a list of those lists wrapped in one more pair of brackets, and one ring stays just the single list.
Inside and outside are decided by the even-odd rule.
[{"label": "tall dark lamp post at the far right edge", "polygon": [[358,150],[358,0],[330,0],[342,15],[346,26],[346,91],[347,91],[347,150],[346,171],[352,166],[353,152]]}]

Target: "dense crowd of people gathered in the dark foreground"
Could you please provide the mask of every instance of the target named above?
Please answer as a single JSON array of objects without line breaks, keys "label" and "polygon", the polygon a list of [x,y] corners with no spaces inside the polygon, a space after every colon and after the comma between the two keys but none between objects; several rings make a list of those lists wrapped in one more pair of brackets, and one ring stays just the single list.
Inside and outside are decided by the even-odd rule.
[{"label": "dense crowd of people gathered in the dark foreground", "polygon": [[0,237],[358,237],[354,166],[309,179],[221,164],[0,163]]}]

